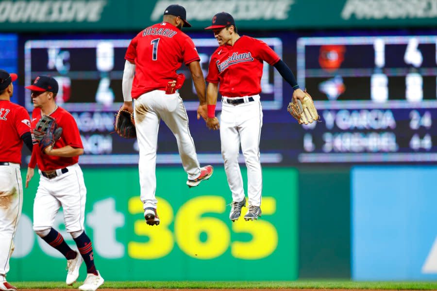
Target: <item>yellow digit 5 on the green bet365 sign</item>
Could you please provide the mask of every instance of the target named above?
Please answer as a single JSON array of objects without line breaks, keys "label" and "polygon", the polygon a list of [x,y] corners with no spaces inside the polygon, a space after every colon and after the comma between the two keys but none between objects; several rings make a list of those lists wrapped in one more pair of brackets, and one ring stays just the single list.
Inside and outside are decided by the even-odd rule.
[{"label": "yellow digit 5 on the green bet365 sign", "polygon": [[[270,215],[276,211],[276,200],[273,197],[263,198],[261,209],[263,214]],[[243,208],[244,210],[244,208]],[[244,213],[241,214],[243,216]],[[278,232],[268,221],[244,221],[243,217],[232,224],[236,233],[243,232],[252,235],[249,242],[232,242],[231,253],[238,259],[262,259],[271,255],[278,246]]]}]

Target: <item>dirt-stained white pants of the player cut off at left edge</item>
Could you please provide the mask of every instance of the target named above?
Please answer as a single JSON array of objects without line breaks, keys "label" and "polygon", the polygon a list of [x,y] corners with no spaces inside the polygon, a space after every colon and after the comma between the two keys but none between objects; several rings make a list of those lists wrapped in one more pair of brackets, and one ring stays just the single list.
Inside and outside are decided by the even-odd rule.
[{"label": "dirt-stained white pants of the player cut off at left edge", "polygon": [[23,206],[20,165],[0,165],[0,275],[9,271],[14,236]]}]

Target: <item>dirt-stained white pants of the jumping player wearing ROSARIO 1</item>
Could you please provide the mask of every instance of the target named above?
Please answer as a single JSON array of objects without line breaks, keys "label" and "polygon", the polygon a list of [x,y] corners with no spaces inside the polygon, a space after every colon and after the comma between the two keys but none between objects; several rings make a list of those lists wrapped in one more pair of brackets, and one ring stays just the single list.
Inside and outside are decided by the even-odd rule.
[{"label": "dirt-stained white pants of the jumping player wearing ROSARIO 1", "polygon": [[162,119],[176,137],[182,165],[188,179],[198,178],[201,170],[196,148],[188,128],[188,116],[179,93],[154,90],[135,100],[135,127],[139,147],[139,180],[144,208],[156,209],[156,150],[159,122]]}]

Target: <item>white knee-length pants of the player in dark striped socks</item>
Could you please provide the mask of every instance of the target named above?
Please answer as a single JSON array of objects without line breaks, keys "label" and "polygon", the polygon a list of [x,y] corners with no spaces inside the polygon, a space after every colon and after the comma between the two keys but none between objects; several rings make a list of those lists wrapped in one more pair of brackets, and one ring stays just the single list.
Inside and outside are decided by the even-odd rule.
[{"label": "white knee-length pants of the player in dark striped socks", "polygon": [[62,206],[67,232],[84,230],[86,187],[79,164],[67,167],[68,172],[55,178],[41,175],[34,199],[34,230],[50,229]]}]

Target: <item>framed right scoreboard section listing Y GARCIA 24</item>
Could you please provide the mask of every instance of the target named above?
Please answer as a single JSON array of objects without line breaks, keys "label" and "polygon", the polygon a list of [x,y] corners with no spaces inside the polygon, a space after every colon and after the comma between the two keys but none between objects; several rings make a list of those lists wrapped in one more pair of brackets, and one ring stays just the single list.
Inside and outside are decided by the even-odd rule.
[{"label": "framed right scoreboard section listing Y GARCIA 24", "polygon": [[436,162],[437,36],[302,37],[297,79],[322,122],[299,162]]}]

